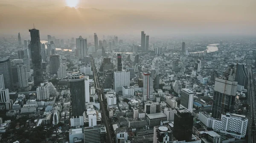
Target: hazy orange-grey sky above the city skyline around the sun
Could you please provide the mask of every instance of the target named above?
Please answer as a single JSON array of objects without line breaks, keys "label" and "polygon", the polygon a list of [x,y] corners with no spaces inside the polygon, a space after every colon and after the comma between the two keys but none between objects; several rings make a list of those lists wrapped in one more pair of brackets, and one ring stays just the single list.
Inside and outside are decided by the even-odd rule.
[{"label": "hazy orange-grey sky above the city skyline around the sun", "polygon": [[256,0],[0,0],[0,34],[252,34]]}]

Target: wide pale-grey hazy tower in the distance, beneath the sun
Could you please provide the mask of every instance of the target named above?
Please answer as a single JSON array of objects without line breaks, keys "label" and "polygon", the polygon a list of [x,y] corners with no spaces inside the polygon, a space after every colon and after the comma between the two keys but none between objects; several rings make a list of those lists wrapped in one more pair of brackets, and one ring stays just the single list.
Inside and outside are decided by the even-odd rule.
[{"label": "wide pale-grey hazy tower in the distance, beneath the sun", "polygon": [[78,56],[80,60],[84,60],[87,56],[87,39],[79,36],[79,38],[76,39],[76,50],[78,54],[76,56]]}]

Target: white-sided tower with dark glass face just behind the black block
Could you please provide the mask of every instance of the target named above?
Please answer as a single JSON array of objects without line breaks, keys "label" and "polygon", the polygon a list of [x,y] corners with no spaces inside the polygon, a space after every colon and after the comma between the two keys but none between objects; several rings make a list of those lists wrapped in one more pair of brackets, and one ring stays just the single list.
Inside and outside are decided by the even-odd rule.
[{"label": "white-sided tower with dark glass face just behind the black block", "polygon": [[181,89],[180,91],[180,107],[185,108],[189,112],[193,112],[194,92],[189,89]]}]

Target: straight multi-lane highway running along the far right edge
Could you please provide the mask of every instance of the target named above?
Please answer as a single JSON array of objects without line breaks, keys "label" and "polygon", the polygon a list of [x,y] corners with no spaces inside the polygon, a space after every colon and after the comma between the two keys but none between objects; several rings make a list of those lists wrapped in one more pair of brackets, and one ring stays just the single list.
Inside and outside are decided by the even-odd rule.
[{"label": "straight multi-lane highway running along the far right edge", "polygon": [[252,72],[251,65],[247,65],[247,92],[248,97],[247,100],[249,104],[249,114],[247,114],[248,118],[248,126],[247,126],[247,132],[248,132],[248,143],[255,143],[256,140],[256,104],[255,104],[255,83],[254,83],[254,77]]}]

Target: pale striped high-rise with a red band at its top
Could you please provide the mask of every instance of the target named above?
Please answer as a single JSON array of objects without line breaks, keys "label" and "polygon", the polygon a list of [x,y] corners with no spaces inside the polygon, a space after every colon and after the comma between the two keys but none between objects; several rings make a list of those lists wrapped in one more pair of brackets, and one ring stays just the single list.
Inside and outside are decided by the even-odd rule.
[{"label": "pale striped high-rise with a red band at its top", "polygon": [[147,99],[151,99],[150,95],[153,94],[153,81],[150,77],[149,73],[143,73],[143,95],[147,97]]}]

